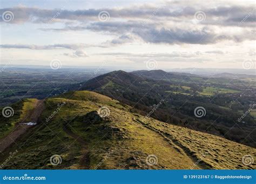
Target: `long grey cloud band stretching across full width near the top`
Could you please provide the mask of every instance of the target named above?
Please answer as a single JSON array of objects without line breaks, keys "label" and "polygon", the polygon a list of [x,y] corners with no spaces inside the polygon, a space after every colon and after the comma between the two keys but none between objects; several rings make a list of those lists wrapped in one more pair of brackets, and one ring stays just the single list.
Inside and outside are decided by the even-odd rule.
[{"label": "long grey cloud band stretching across full width near the top", "polygon": [[[185,5],[174,2],[161,4],[159,6],[148,6],[142,4],[140,6],[129,6],[127,8],[112,8],[112,9],[86,9],[86,10],[67,10],[65,6],[62,9],[39,9],[29,8],[24,6],[17,6],[14,8],[0,9],[2,15],[5,11],[11,11],[14,13],[14,20],[8,23],[53,23],[57,20],[69,20],[69,21],[99,21],[98,14],[101,11],[107,11],[111,18],[128,18],[128,19],[154,19],[161,18],[165,21],[166,18],[177,19],[181,22],[191,19],[194,13],[197,11],[204,11],[206,15],[206,21],[202,24],[219,24],[219,25],[237,25],[242,19],[253,10],[253,7],[238,6],[238,5],[220,5],[216,4],[214,8],[209,8],[207,4],[200,3],[200,6]],[[255,9],[255,5],[254,5]],[[185,19],[184,19],[185,18]],[[213,21],[218,18],[218,21]],[[0,19],[3,22],[3,19]],[[209,21],[209,22],[207,22]],[[245,24],[256,22],[255,11],[252,16],[248,18]],[[250,24],[251,25],[251,24]]]}]

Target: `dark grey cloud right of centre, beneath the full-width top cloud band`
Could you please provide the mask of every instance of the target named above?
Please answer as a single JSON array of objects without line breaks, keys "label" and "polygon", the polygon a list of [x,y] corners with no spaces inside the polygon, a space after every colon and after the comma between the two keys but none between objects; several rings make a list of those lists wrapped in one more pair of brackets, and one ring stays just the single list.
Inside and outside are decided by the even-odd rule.
[{"label": "dark grey cloud right of centre, beneath the full-width top cloud band", "polygon": [[242,42],[247,39],[255,39],[253,31],[245,31],[240,35],[226,35],[225,33],[215,33],[213,29],[178,29],[178,28],[161,28],[159,25],[145,25],[133,22],[107,22],[93,23],[90,26],[94,31],[105,31],[109,33],[130,33],[139,36],[147,43],[187,43],[187,44],[212,44],[221,40],[233,40],[234,42]]}]

